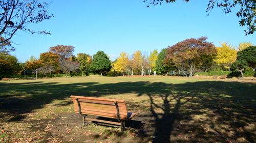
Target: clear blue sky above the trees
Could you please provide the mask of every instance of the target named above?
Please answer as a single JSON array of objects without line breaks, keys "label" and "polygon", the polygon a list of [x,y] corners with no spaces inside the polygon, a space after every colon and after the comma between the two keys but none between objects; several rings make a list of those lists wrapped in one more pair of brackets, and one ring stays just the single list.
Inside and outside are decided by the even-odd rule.
[{"label": "clear blue sky above the trees", "polygon": [[215,8],[207,16],[207,4],[190,0],[147,8],[143,0],[53,0],[48,11],[54,17],[29,25],[36,31],[48,30],[51,35],[18,32],[11,40],[16,48],[11,54],[25,62],[32,55],[39,58],[51,46],[72,45],[75,55],[103,50],[114,60],[122,51],[161,51],[187,38],[202,36],[216,46],[220,41],[234,46],[239,42],[256,44],[255,34],[245,36],[245,27],[239,26],[238,8],[229,14]]}]

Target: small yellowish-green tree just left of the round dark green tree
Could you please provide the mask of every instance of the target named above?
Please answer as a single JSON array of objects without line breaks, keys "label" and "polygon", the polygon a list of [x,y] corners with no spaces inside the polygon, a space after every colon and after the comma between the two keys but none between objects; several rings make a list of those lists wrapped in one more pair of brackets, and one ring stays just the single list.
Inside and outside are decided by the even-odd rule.
[{"label": "small yellowish-green tree just left of the round dark green tree", "polygon": [[82,74],[89,71],[90,65],[92,63],[92,56],[86,53],[78,53],[76,60],[80,64],[80,70],[82,71]]}]

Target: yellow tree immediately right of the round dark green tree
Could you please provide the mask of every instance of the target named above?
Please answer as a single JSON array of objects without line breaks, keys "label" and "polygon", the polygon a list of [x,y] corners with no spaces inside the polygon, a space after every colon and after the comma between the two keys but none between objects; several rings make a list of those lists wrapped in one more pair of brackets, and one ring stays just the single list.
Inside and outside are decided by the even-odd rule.
[{"label": "yellow tree immediately right of the round dark green tree", "polygon": [[122,52],[120,53],[120,56],[116,59],[116,61],[113,64],[113,70],[116,72],[120,72],[124,75],[124,72],[127,71],[129,66],[129,54]]}]

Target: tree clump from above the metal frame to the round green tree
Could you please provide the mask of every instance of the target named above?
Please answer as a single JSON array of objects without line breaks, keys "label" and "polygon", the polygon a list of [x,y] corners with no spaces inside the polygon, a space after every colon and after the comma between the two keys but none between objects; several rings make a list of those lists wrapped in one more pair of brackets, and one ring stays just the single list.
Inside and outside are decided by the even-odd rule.
[{"label": "tree clump from above the metal frame to the round green tree", "polygon": [[38,60],[33,57],[27,61],[23,69],[38,69],[38,72],[47,76],[47,74],[81,72],[82,74],[92,71],[102,72],[111,69],[111,61],[103,51],[98,51],[90,56],[86,53],[73,55],[74,46],[57,45],[50,47],[49,51],[41,53]]}]

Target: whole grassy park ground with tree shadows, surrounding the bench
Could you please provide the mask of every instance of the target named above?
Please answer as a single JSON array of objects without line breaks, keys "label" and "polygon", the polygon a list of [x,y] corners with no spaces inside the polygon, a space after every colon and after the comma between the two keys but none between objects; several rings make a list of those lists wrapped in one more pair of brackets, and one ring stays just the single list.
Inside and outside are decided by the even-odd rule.
[{"label": "whole grassy park ground with tree shadows, surrounding the bench", "polygon": [[[189,77],[0,81],[0,142],[255,142],[256,82]],[[118,128],[80,127],[71,95],[116,98],[138,112]]]}]

